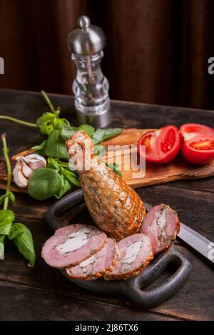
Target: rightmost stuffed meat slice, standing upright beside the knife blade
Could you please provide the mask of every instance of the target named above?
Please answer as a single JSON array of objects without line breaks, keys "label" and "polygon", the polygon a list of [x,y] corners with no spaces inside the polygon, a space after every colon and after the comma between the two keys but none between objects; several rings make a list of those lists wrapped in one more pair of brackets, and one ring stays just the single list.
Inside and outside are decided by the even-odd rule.
[{"label": "rightmost stuffed meat slice, standing upright beside the knife blade", "polygon": [[168,249],[180,230],[177,213],[168,205],[158,205],[148,211],[141,225],[141,232],[151,238],[153,252]]}]

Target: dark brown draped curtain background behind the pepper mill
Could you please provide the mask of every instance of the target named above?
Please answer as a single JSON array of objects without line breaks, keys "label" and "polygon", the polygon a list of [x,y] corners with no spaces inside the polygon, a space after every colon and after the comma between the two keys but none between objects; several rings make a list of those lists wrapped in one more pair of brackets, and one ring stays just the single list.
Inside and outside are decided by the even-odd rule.
[{"label": "dark brown draped curtain background behind the pepper mill", "polygon": [[0,0],[0,88],[71,93],[78,16],[106,33],[111,98],[214,108],[213,0]]}]

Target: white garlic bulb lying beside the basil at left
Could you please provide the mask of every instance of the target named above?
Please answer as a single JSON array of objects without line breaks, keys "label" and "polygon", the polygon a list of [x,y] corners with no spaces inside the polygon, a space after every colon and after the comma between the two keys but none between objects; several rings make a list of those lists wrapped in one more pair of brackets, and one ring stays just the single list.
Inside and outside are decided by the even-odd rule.
[{"label": "white garlic bulb lying beside the basil at left", "polygon": [[40,155],[32,153],[27,156],[19,156],[16,158],[16,166],[13,170],[14,182],[17,186],[27,187],[29,177],[34,170],[46,167],[46,160]]}]

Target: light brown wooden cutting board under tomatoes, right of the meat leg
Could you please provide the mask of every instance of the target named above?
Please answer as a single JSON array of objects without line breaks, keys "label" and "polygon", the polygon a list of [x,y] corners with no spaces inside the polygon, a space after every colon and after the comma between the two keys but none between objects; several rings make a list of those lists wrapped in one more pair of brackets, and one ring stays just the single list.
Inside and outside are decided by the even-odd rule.
[{"label": "light brown wooden cutting board under tomatoes, right of the meat leg", "polygon": [[[137,145],[138,139],[146,133],[149,129],[126,129],[123,130],[121,135],[116,138],[112,138],[104,142],[104,145]],[[122,150],[122,153],[121,153]],[[124,152],[125,151],[125,152]],[[132,149],[132,153],[136,151],[136,148]],[[194,165],[188,163],[182,156],[178,155],[173,162],[168,164],[154,164],[146,162],[146,174],[138,173],[139,170],[134,171],[124,170],[124,156],[130,155],[129,150],[123,150],[118,148],[114,155],[108,154],[108,157],[112,157],[111,161],[116,160],[116,156],[121,155],[120,170],[123,178],[128,182],[129,185],[134,188],[143,187],[148,185],[158,185],[164,182],[172,182],[174,180],[187,180],[187,179],[200,179],[210,177],[214,175],[214,160],[208,165]],[[119,162],[118,162],[119,163]],[[133,177],[134,176],[134,177]]]}]

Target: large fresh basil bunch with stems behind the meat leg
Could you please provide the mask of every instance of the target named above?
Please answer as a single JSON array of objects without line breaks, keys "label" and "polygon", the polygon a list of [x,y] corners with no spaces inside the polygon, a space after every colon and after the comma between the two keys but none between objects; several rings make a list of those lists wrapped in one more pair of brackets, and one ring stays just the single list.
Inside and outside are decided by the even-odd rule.
[{"label": "large fresh basil bunch with stems behind the meat leg", "polygon": [[[85,131],[88,136],[93,139],[94,153],[99,157],[102,157],[106,153],[106,147],[101,145],[101,142],[113,138],[122,131],[121,128],[95,130],[92,125],[84,124],[74,127],[69,124],[66,118],[60,118],[60,108],[54,108],[49,96],[47,96],[44,91],[41,91],[41,93],[49,106],[49,111],[37,118],[36,123],[28,123],[26,121],[0,115],[1,118],[5,120],[37,127],[40,129],[41,133],[47,136],[46,140],[32,148],[35,150],[35,153],[47,156],[49,161],[49,165],[46,168],[34,170],[29,178],[29,195],[37,200],[45,200],[53,195],[60,198],[73,186],[81,187],[78,173],[69,170],[69,156],[65,145],[66,140],[68,140],[76,130]],[[116,168],[116,165],[112,165],[111,168],[118,173],[118,175],[121,175],[121,172]],[[14,201],[12,192],[8,192],[5,196],[11,201]],[[0,197],[0,204],[3,201],[4,198]]]}]

